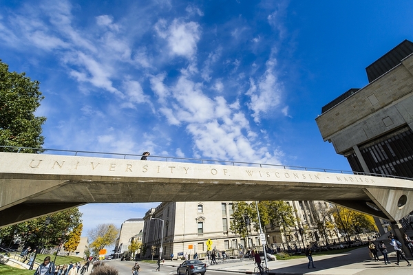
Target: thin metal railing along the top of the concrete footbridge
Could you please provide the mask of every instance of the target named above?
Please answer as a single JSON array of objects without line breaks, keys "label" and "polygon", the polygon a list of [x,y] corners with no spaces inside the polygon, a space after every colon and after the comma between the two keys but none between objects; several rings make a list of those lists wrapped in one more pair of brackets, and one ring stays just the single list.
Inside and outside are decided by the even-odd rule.
[{"label": "thin metal railing along the top of the concrete footbridge", "polygon": [[[123,159],[140,159],[142,155],[140,154],[129,154],[129,153],[109,153],[109,152],[94,152],[94,151],[79,151],[79,150],[63,150],[63,149],[50,149],[50,148],[32,148],[32,147],[19,147],[19,146],[1,146],[0,152],[14,152],[14,153],[43,153],[43,154],[54,154],[54,155],[74,155],[81,157],[107,157],[107,158],[123,158]],[[314,168],[314,167],[304,167],[304,166],[290,166],[283,164],[264,164],[257,162],[235,162],[232,160],[219,160],[219,159],[195,159],[191,157],[165,157],[160,155],[151,155],[151,159],[165,161],[165,162],[186,162],[195,164],[220,164],[220,165],[231,165],[231,166],[250,166],[250,167],[260,167],[260,168],[283,168],[288,170],[304,170],[311,172],[324,172],[324,173],[340,173],[348,175],[369,175],[374,177],[390,177],[396,179],[408,179],[413,180],[408,177],[399,177],[396,175],[383,175],[376,173],[364,173],[349,170],[337,170],[328,168]]]}]

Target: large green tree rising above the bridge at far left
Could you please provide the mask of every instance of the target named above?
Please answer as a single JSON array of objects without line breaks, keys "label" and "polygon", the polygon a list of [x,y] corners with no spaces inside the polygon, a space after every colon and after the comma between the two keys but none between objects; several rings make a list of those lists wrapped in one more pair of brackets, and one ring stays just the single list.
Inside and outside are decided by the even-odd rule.
[{"label": "large green tree rising above the bridge at far left", "polygon": [[[44,137],[41,125],[45,117],[36,117],[34,111],[43,96],[39,81],[32,81],[25,73],[9,72],[0,60],[0,145],[41,148]],[[0,151],[15,151],[1,148]],[[30,149],[22,150],[34,153]]]}]

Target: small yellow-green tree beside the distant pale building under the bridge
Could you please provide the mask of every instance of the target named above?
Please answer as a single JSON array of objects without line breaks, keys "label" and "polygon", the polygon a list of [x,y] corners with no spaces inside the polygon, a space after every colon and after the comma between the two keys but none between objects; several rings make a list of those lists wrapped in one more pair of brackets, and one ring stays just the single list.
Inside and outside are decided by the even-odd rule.
[{"label": "small yellow-green tree beside the distant pale building under the bridge", "polygon": [[87,232],[89,239],[92,240],[90,248],[94,255],[97,255],[99,250],[107,245],[112,245],[118,238],[119,230],[113,223],[103,223],[96,228]]}]

